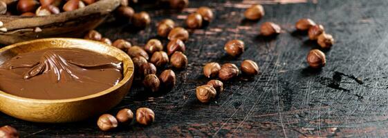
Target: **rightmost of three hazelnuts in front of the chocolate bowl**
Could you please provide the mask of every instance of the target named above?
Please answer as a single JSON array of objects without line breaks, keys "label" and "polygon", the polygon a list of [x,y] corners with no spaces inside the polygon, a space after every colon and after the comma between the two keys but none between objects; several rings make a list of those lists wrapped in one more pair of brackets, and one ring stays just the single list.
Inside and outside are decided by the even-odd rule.
[{"label": "rightmost of three hazelnuts in front of the chocolate bowl", "polygon": [[138,108],[136,110],[136,121],[142,125],[149,125],[154,122],[155,113],[149,108]]}]

